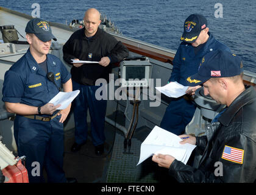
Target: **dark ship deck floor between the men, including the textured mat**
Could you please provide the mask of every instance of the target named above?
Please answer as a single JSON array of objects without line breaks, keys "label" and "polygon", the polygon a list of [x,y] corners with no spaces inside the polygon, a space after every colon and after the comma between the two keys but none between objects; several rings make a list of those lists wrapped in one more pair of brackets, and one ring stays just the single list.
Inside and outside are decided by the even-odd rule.
[{"label": "dark ship deck floor between the men, including the textured mat", "polygon": [[[109,118],[115,118],[108,116]],[[125,116],[118,113],[117,121],[124,125]],[[88,125],[90,127],[90,124]],[[135,130],[130,152],[124,154],[123,132],[105,122],[105,151],[101,156],[94,154],[90,137],[79,152],[71,152],[74,143],[74,129],[65,132],[64,170],[66,177],[76,177],[79,183],[158,183],[174,182],[168,176],[168,169],[160,168],[149,157],[137,166],[140,146],[151,132],[148,127]]]}]

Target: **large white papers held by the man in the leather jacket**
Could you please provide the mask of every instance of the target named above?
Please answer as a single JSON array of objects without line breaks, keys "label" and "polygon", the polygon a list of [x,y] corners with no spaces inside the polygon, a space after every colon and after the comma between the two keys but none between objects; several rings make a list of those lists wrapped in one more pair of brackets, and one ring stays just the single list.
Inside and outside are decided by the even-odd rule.
[{"label": "large white papers held by the man in the leather jacket", "polygon": [[188,143],[180,144],[180,141],[182,139],[179,136],[155,126],[141,144],[140,160],[137,165],[140,165],[140,163],[153,154],[172,155],[172,157],[182,161],[186,165],[196,145]]}]

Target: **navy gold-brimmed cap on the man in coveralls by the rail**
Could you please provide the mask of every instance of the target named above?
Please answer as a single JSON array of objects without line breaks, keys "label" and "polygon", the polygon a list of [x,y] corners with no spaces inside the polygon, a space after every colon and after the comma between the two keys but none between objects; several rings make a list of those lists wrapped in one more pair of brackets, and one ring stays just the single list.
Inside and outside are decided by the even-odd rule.
[{"label": "navy gold-brimmed cap on the man in coveralls by the rail", "polygon": [[201,30],[207,27],[207,19],[201,14],[191,14],[184,22],[184,30],[181,41],[194,43],[198,38]]}]

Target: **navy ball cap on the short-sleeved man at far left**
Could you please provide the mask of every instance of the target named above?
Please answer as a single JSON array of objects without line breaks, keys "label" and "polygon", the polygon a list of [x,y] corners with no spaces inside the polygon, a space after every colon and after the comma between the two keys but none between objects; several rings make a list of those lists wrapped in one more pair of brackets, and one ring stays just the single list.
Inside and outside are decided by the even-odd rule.
[{"label": "navy ball cap on the short-sleeved man at far left", "polygon": [[26,33],[35,34],[41,41],[47,42],[51,39],[57,41],[57,39],[52,35],[51,27],[48,21],[40,18],[33,18],[27,23]]}]

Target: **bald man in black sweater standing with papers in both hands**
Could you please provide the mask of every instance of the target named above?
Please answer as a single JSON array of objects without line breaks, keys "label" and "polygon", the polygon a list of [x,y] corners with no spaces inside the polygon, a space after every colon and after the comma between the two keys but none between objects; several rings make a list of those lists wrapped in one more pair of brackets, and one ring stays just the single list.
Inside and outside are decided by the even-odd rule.
[{"label": "bald man in black sweater standing with papers in both hands", "polygon": [[[121,41],[99,29],[100,13],[88,9],[84,16],[84,28],[74,32],[63,46],[63,59],[73,65],[71,77],[74,90],[80,90],[74,100],[75,143],[71,151],[77,152],[87,142],[87,110],[91,116],[91,136],[96,155],[104,153],[106,99],[96,99],[97,79],[109,80],[111,64],[121,62],[129,51]],[[99,63],[72,63],[71,59]]]}]

